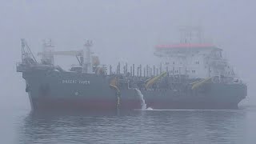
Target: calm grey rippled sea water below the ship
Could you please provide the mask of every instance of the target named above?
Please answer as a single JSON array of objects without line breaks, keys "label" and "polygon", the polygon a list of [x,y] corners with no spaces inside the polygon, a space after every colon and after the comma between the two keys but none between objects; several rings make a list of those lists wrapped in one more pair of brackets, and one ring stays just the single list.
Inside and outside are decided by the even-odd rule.
[{"label": "calm grey rippled sea water below the ship", "polygon": [[256,143],[256,107],[33,114],[2,110],[0,143]]}]

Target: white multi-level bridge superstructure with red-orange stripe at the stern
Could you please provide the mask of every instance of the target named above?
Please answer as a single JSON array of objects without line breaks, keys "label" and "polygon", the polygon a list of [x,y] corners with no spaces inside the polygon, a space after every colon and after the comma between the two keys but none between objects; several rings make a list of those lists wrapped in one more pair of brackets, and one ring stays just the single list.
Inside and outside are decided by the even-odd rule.
[{"label": "white multi-level bridge superstructure with red-orange stripe at the stern", "polygon": [[222,49],[211,44],[158,45],[154,55],[161,58],[169,74],[186,74],[190,78],[234,74],[227,60],[222,57]]}]

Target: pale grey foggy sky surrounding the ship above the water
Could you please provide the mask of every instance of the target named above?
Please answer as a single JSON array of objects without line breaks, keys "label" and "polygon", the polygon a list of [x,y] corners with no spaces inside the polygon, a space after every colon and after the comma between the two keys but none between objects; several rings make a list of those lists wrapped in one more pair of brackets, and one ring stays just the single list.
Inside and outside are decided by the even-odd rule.
[{"label": "pale grey foggy sky surrounding the ship above the water", "polygon": [[[254,104],[256,2],[235,0],[92,0],[9,1],[0,4],[0,86],[4,109],[30,107],[22,74],[20,38],[36,54],[42,39],[56,50],[79,50],[86,39],[110,64],[154,62],[154,46],[178,42],[178,26],[202,26],[205,37],[226,52],[235,72],[247,83],[246,104]],[[59,58],[61,66],[74,58]]]}]

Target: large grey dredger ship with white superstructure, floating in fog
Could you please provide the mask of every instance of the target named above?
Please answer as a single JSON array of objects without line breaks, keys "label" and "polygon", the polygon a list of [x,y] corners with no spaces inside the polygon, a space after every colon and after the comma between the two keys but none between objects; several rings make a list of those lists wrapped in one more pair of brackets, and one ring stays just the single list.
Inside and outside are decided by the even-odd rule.
[{"label": "large grey dredger ship with white superstructure, floating in fog", "polygon": [[[158,66],[101,65],[87,41],[82,50],[54,51],[48,42],[38,62],[22,39],[17,71],[26,80],[32,110],[237,109],[247,87],[222,49],[181,42],[155,47]],[[54,56],[71,55],[78,66],[62,70]],[[130,69],[130,70],[129,70]],[[146,108],[145,107],[145,108]]]}]

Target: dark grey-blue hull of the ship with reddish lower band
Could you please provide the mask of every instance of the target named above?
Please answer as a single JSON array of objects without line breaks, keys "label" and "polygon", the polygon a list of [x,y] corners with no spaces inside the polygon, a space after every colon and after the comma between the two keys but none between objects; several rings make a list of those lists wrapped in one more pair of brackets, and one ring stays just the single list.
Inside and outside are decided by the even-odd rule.
[{"label": "dark grey-blue hull of the ship with reddish lower band", "polygon": [[238,109],[247,91],[241,83],[206,83],[197,90],[141,90],[142,96],[120,86],[118,100],[110,86],[113,76],[38,70],[23,73],[23,78],[32,110],[138,110],[142,97],[156,110],[227,110]]}]

